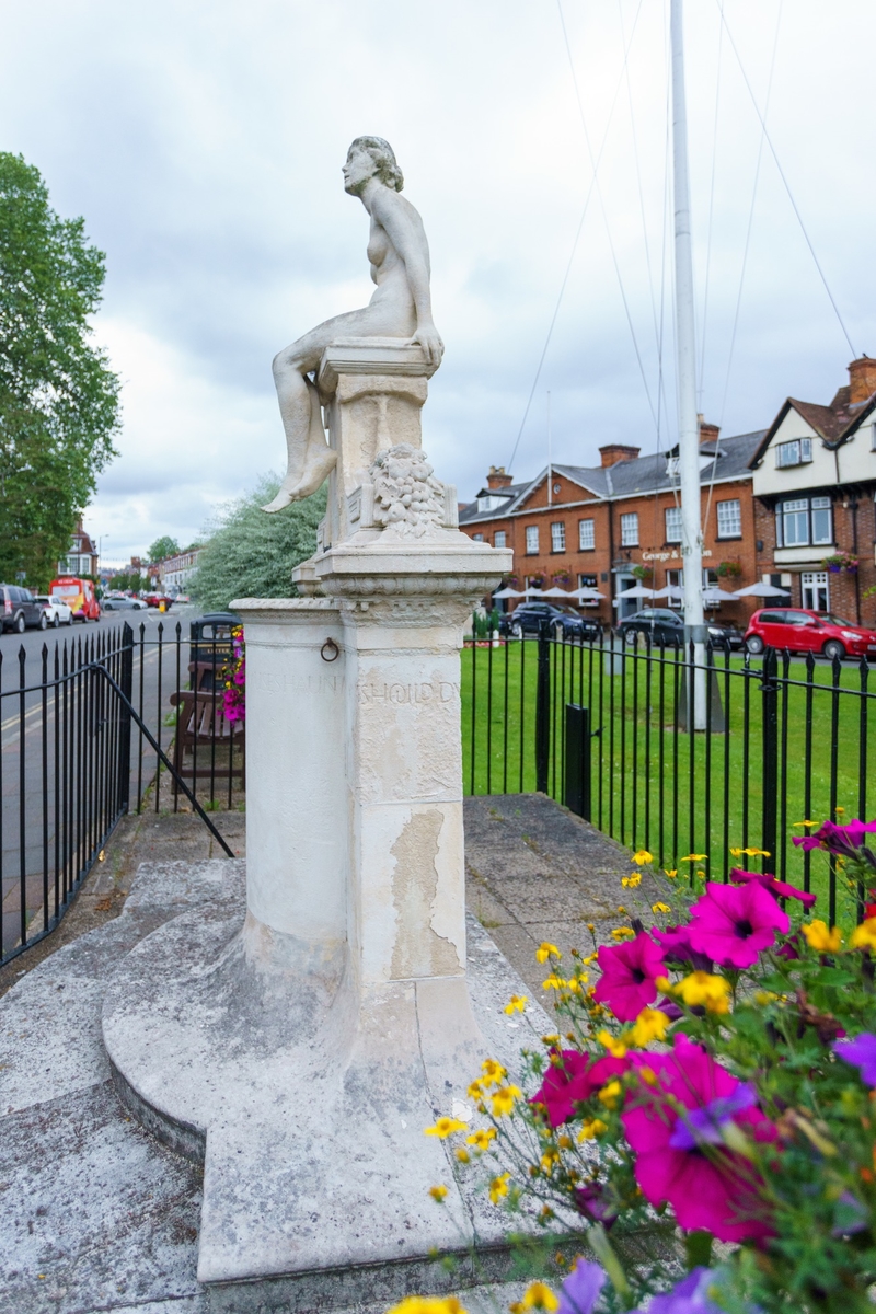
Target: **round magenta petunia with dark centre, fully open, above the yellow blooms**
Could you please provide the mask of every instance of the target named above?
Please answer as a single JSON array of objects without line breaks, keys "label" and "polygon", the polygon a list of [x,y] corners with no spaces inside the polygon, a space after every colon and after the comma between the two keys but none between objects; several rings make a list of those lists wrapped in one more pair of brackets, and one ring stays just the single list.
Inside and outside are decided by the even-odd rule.
[{"label": "round magenta petunia with dark centre, fully open, above the yellow blooms", "polygon": [[735,887],[709,880],[691,908],[691,943],[725,967],[751,967],[775,943],[776,930],[787,934],[789,928],[788,913],[755,882]]}]

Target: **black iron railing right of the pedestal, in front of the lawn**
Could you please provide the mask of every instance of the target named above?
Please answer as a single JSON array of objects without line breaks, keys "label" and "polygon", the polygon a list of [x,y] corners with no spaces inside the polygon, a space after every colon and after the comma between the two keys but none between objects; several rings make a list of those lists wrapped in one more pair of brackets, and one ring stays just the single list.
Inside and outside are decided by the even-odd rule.
[{"label": "black iron railing right of the pedestal, in front of the lawn", "polygon": [[821,883],[833,916],[835,866],[822,870],[792,836],[873,809],[867,662],[699,653],[553,632],[466,645],[466,792],[541,790],[667,870],[726,880],[747,866]]}]

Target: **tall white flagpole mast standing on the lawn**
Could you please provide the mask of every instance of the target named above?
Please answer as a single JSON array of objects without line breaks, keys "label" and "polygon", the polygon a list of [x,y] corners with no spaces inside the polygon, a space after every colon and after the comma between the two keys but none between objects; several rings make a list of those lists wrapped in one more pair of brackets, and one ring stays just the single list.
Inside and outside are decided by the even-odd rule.
[{"label": "tall white flagpole mast standing on the lawn", "polygon": [[[696,414],[696,330],[691,197],[687,175],[687,109],[684,102],[683,0],[670,0],[672,46],[672,198],[675,210],[675,338],[678,385],[678,468],[682,494],[684,560],[684,632],[695,643],[697,666],[705,662],[703,615],[703,528],[700,524],[700,424]],[[705,673],[692,673],[693,727],[705,729]]]}]

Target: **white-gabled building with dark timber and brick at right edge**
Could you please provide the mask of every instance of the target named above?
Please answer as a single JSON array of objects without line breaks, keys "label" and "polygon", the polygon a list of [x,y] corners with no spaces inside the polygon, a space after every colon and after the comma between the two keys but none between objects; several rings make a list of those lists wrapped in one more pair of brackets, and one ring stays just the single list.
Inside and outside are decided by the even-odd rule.
[{"label": "white-gabled building with dark timber and brick at right edge", "polygon": [[876,360],[830,405],[788,397],[751,460],[758,572],[789,602],[876,624]]}]

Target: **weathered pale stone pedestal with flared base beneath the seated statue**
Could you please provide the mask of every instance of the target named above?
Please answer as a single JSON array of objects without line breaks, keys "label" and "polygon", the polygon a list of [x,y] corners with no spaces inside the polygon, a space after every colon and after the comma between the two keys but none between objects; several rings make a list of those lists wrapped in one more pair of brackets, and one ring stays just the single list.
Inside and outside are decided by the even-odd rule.
[{"label": "weathered pale stone pedestal with flared base beneath the seated statue", "polygon": [[423,1135],[465,1112],[491,1049],[466,984],[458,652],[511,566],[453,527],[422,453],[429,372],[386,340],[326,352],[339,461],[310,597],[232,603],[246,921],[148,937],[104,1013],[123,1097],[205,1156],[205,1282],[377,1275],[502,1239],[482,1198],[429,1200],[453,1177]]}]

